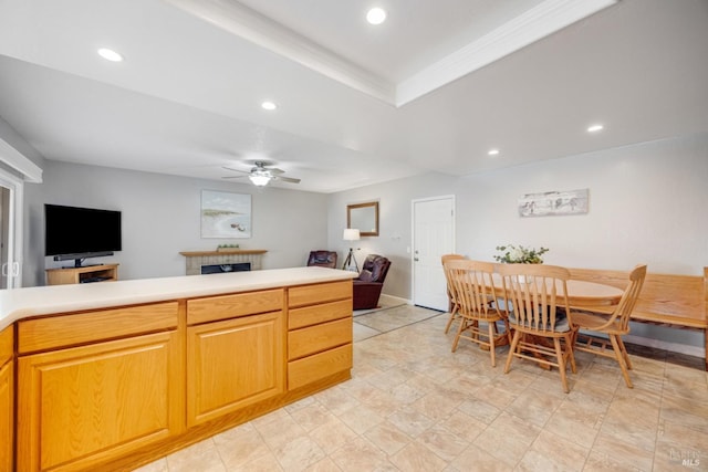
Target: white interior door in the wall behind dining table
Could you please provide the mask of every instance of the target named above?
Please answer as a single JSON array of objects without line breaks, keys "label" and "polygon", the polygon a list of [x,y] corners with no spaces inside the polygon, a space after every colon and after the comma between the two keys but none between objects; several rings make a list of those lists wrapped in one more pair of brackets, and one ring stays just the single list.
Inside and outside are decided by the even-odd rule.
[{"label": "white interior door in the wall behind dining table", "polygon": [[413,303],[447,311],[440,258],[455,251],[455,197],[413,201]]}]

